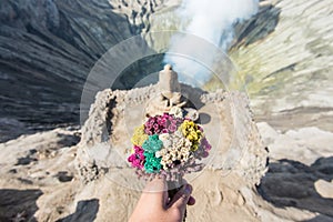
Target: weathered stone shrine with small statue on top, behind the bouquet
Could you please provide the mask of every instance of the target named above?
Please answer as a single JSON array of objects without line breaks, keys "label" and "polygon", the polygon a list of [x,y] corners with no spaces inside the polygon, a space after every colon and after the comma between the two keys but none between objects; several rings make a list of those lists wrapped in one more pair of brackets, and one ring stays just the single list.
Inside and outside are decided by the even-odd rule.
[{"label": "weathered stone shrine with small statue on top, behind the bouquet", "polygon": [[147,117],[174,105],[196,115],[212,143],[204,170],[186,178],[194,186],[194,196],[200,199],[189,209],[191,221],[202,221],[209,216],[205,212],[228,211],[231,205],[239,211],[255,211],[256,206],[244,203],[253,201],[256,192],[253,188],[266,171],[268,152],[252,120],[246,95],[224,90],[205,92],[179,83],[178,73],[169,64],[159,78],[157,84],[129,91],[105,89],[91,105],[75,158],[80,178],[90,186],[87,192],[104,201],[103,204],[109,205],[112,195],[118,196],[119,203],[129,204],[127,208],[112,204],[98,216],[107,219],[131,212],[137,201],[129,196],[138,199],[144,184],[127,162],[133,128]]}]

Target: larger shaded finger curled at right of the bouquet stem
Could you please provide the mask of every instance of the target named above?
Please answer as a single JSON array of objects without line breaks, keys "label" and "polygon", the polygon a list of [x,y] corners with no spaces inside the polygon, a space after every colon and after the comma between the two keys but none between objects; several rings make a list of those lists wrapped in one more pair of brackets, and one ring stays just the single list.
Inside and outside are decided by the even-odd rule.
[{"label": "larger shaded finger curled at right of the bouquet stem", "polygon": [[192,185],[185,184],[183,188],[175,193],[172,201],[170,202],[170,208],[176,208],[183,214],[186,209],[186,204],[192,193]]}]

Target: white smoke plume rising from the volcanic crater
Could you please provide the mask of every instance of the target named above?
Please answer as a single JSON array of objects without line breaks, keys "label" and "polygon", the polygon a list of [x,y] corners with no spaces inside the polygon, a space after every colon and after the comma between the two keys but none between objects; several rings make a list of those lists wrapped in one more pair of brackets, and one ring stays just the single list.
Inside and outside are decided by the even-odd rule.
[{"label": "white smoke plume rising from the volcanic crater", "polygon": [[[258,8],[259,0],[183,0],[179,13],[183,21],[190,22],[185,30],[181,31],[202,38],[226,51],[233,40],[233,24],[255,14]],[[206,67],[212,65],[216,53],[206,49],[205,44],[198,46],[193,37],[184,34],[171,38],[169,52],[173,51],[200,54],[205,58]],[[200,64],[200,61],[167,53],[164,62],[171,63],[175,71],[191,77],[192,80],[195,79],[199,83],[210,79],[210,71]],[[180,80],[191,81],[182,75]],[[198,84],[194,81],[191,83]]]}]

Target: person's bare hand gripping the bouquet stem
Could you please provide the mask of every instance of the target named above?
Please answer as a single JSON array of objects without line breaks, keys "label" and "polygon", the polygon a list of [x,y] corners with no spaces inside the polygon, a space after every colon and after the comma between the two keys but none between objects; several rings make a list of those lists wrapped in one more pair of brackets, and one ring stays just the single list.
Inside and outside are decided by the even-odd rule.
[{"label": "person's bare hand gripping the bouquet stem", "polygon": [[154,179],[145,185],[129,222],[182,222],[186,204],[195,203],[191,193],[192,186],[184,184],[173,199],[169,200],[165,179]]}]

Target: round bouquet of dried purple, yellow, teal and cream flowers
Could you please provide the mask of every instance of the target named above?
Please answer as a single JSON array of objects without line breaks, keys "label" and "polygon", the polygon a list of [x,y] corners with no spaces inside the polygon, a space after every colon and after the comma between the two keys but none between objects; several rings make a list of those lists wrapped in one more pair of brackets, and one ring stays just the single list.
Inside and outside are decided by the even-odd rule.
[{"label": "round bouquet of dried purple, yellow, teal and cream flowers", "polygon": [[203,129],[174,107],[169,113],[150,117],[139,125],[131,139],[133,143],[128,161],[139,176],[164,176],[169,181],[169,198],[179,190],[185,173],[202,169],[199,161],[209,155],[211,145]]}]

